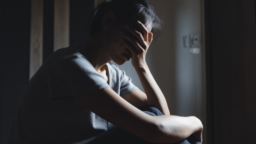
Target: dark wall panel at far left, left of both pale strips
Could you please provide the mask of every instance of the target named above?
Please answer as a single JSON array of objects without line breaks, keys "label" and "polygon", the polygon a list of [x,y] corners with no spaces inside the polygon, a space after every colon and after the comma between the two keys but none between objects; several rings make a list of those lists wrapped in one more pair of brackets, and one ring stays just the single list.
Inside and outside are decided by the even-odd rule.
[{"label": "dark wall panel at far left, left of both pale strips", "polygon": [[29,81],[30,1],[1,0],[0,5],[0,143],[6,144]]}]

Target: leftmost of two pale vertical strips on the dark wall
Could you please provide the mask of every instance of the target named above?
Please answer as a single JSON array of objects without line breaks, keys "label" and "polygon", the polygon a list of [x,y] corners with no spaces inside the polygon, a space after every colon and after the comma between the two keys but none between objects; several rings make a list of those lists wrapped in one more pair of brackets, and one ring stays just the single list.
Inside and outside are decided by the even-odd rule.
[{"label": "leftmost of two pale vertical strips on the dark wall", "polygon": [[43,0],[31,0],[30,79],[43,63]]}]

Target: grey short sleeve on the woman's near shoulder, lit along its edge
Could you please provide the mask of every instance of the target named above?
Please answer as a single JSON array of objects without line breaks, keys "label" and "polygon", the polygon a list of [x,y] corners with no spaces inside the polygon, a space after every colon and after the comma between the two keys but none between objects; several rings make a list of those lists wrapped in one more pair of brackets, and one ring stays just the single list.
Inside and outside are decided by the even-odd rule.
[{"label": "grey short sleeve on the woman's near shoulder, lit along its edge", "polygon": [[80,55],[60,60],[47,75],[49,97],[52,101],[69,98],[109,87],[104,77]]}]

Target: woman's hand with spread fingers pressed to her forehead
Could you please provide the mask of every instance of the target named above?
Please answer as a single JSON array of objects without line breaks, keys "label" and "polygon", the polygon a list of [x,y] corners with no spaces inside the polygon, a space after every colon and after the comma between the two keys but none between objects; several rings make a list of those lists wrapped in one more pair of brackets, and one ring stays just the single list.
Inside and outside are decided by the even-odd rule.
[{"label": "woman's hand with spread fingers pressed to her forehead", "polygon": [[142,33],[127,25],[125,28],[130,32],[130,34],[121,32],[122,36],[125,38],[122,38],[121,40],[132,53],[131,63],[133,67],[141,68],[146,64],[145,56],[148,47],[152,42],[153,33],[148,31],[140,21],[137,21],[137,25],[142,30]]}]

